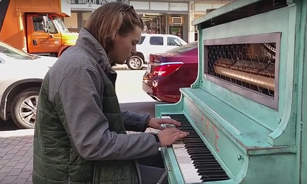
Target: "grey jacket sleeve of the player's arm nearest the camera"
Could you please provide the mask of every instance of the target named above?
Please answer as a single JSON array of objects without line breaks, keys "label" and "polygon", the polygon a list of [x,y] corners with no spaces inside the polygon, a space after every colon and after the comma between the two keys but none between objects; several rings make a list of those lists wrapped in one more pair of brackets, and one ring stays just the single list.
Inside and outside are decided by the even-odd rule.
[{"label": "grey jacket sleeve of the player's arm nearest the camera", "polygon": [[[75,67],[66,74],[54,103],[72,146],[86,160],[123,160],[155,155],[160,143],[150,133],[117,134],[109,131],[102,112],[103,81],[93,68]],[[56,95],[55,95],[56,96]],[[58,110],[57,109],[57,110]],[[63,119],[64,118],[64,119]]]}]

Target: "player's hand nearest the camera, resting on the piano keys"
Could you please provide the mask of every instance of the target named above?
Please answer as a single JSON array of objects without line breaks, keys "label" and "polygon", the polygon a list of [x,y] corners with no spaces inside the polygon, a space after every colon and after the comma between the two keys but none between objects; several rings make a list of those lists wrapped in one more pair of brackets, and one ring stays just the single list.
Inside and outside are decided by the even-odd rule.
[{"label": "player's hand nearest the camera, resting on the piano keys", "polygon": [[187,137],[189,133],[183,132],[176,128],[167,128],[159,132],[158,137],[160,139],[160,147],[170,146],[174,142]]}]

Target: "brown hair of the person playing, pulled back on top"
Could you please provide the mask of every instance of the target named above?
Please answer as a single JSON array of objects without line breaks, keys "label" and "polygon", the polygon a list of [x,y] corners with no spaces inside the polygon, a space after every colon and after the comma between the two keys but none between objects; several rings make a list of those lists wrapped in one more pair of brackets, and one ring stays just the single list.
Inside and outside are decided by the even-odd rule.
[{"label": "brown hair of the person playing, pulled back on top", "polygon": [[85,28],[109,53],[113,50],[115,35],[126,36],[134,31],[135,26],[144,29],[141,17],[132,6],[109,2],[93,12]]}]

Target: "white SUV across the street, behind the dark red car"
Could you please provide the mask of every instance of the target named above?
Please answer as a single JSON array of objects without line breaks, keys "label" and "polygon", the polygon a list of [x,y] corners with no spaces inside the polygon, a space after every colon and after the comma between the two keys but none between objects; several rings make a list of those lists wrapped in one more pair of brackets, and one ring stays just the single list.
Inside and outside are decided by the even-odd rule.
[{"label": "white SUV across the street, behind the dark red car", "polygon": [[139,70],[149,60],[149,54],[166,52],[173,48],[186,45],[183,39],[171,34],[142,34],[136,45],[136,55],[132,56],[127,65],[130,69]]}]

